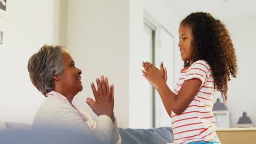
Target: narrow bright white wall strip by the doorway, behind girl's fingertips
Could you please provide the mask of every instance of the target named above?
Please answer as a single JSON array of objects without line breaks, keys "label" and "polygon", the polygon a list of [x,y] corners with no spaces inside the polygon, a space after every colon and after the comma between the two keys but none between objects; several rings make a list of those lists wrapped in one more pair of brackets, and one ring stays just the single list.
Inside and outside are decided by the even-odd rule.
[{"label": "narrow bright white wall strip by the doorway, behind girl's fingertips", "polygon": [[142,76],[142,61],[152,61],[149,46],[144,45],[144,17],[142,0],[130,0],[129,4],[129,127],[152,127],[150,84]]}]

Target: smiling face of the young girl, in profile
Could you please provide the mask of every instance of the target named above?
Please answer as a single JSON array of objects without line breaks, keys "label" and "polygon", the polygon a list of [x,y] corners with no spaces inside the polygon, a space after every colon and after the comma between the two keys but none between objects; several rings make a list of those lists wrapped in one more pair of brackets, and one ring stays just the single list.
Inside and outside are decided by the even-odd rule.
[{"label": "smiling face of the young girl, in profile", "polygon": [[192,54],[191,54],[191,41],[193,40],[193,35],[191,28],[189,28],[187,25],[181,25],[179,26],[179,51],[181,51],[181,57],[183,61],[191,61],[193,60]]}]

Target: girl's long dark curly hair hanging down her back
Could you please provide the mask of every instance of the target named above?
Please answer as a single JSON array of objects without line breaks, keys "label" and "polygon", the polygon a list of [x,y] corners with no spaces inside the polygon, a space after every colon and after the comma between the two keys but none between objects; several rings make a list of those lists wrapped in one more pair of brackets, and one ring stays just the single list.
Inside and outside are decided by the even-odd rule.
[{"label": "girl's long dark curly hair hanging down her back", "polygon": [[[193,62],[206,59],[213,71],[214,89],[226,100],[230,75],[236,77],[237,58],[225,25],[211,14],[202,12],[191,13],[181,25],[190,27],[193,34],[190,47]],[[184,61],[185,67],[189,67],[189,61]]]}]

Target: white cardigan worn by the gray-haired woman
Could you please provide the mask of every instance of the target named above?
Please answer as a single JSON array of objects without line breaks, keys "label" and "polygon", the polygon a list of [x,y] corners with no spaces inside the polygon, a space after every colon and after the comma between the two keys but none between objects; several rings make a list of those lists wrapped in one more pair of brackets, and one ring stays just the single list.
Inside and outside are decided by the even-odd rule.
[{"label": "white cardigan worn by the gray-haired woman", "polygon": [[[83,111],[82,111],[83,112]],[[108,143],[121,143],[117,121],[113,124],[110,117],[101,115],[97,121],[92,121],[88,113],[83,112],[88,121],[84,121],[78,112],[69,104],[57,97],[47,97],[39,107],[32,124],[33,129],[43,127],[65,127],[81,131],[85,135],[96,135]]]}]

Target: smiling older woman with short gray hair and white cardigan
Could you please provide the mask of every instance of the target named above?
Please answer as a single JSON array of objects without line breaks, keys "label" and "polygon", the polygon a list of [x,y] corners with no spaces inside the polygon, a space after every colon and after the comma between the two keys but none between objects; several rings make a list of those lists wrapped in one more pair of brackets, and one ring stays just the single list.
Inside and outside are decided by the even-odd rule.
[{"label": "smiling older woman with short gray hair and white cardigan", "polygon": [[83,89],[82,70],[75,67],[66,47],[44,45],[29,59],[28,71],[33,85],[46,97],[34,117],[34,129],[65,128],[92,134],[106,143],[121,143],[113,112],[114,86],[109,87],[107,77],[96,79],[97,90],[91,83],[95,101],[86,100],[98,116],[96,123],[72,104],[75,95]]}]

